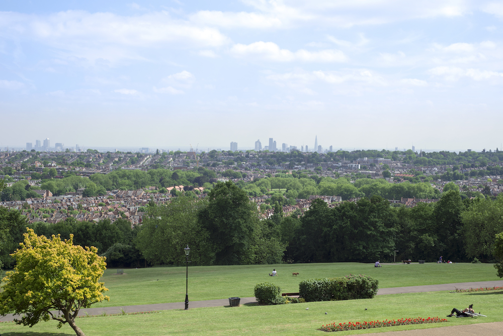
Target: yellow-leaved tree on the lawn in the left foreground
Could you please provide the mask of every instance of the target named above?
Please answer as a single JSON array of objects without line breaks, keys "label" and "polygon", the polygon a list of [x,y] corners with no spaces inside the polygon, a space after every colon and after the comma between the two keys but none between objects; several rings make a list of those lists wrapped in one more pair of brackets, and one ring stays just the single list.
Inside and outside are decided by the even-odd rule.
[{"label": "yellow-leaved tree on the lawn in the left foreground", "polygon": [[80,308],[95,302],[110,300],[103,295],[104,283],[99,282],[105,271],[105,257],[94,246],[83,248],[59,234],[46,238],[27,228],[24,242],[12,255],[14,271],[2,280],[0,315],[18,314],[17,324],[33,326],[40,320],[59,321],[58,328],[68,323],[78,336],[85,336],[75,324]]}]

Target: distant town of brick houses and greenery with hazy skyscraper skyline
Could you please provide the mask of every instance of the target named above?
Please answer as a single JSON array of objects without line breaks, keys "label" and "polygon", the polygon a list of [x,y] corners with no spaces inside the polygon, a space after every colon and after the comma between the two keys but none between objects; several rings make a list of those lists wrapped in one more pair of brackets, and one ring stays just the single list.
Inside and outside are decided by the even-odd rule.
[{"label": "distant town of brick houses and greenery with hazy skyscraper skyline", "polygon": [[[317,145],[317,138],[314,148],[317,150],[283,143],[280,149],[270,138],[268,146],[262,147],[258,140],[255,150],[246,151],[237,150],[237,143],[231,142],[230,150],[208,152],[197,148],[100,152],[83,151],[78,145],[65,148],[62,143],[51,147],[49,139],[37,140],[35,146],[27,143],[23,150],[0,152],[0,179],[5,182],[0,205],[23,210],[29,222],[124,218],[137,225],[149,202],[164,204],[181,194],[204,198],[215,183],[224,181],[244,189],[266,218],[274,213],[276,202],[283,213],[300,216],[315,198],[331,206],[358,200],[369,196],[367,182],[378,180],[388,189],[403,183],[426,188],[381,193],[391,204],[405,206],[436,202],[450,182],[463,198],[495,197],[503,188],[503,152],[498,148],[459,153],[426,153],[414,147],[333,151],[332,146],[323,149]],[[127,175],[128,171],[143,174],[143,181],[131,183],[137,177]],[[157,176],[162,174],[164,177]],[[289,187],[286,178],[292,177],[299,183]],[[74,181],[69,182],[71,179]],[[362,179],[366,180],[358,182]],[[348,183],[345,189],[341,189],[341,181]]]}]

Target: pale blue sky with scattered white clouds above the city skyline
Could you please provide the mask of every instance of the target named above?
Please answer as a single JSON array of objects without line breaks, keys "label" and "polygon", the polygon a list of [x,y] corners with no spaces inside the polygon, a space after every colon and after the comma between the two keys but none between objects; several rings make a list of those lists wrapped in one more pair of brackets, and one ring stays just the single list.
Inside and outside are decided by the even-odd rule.
[{"label": "pale blue sky with scattered white clouds above the city skyline", "polygon": [[503,3],[0,2],[0,147],[501,148]]}]

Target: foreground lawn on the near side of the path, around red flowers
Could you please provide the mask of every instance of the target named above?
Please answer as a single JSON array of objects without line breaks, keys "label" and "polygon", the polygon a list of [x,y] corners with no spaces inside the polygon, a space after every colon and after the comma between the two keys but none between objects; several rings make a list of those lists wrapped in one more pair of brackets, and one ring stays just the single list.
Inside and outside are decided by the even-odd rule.
[{"label": "foreground lawn on the near side of the path, around red flowers", "polygon": [[[476,311],[488,317],[445,317],[453,307],[473,303]],[[374,299],[309,302],[277,306],[246,305],[240,307],[192,308],[166,310],[153,314],[78,318],[77,325],[93,336],[157,335],[324,335],[316,330],[332,322],[445,317],[446,323],[396,326],[378,329],[340,331],[349,335],[393,330],[431,328],[458,324],[503,320],[503,291],[477,293],[428,292],[380,295]],[[306,310],[306,308],[309,308]],[[365,310],[367,308],[367,310]],[[325,312],[327,314],[325,314]],[[40,322],[33,328],[12,322],[0,323],[2,336],[72,335],[67,326],[56,329],[56,323]]]}]

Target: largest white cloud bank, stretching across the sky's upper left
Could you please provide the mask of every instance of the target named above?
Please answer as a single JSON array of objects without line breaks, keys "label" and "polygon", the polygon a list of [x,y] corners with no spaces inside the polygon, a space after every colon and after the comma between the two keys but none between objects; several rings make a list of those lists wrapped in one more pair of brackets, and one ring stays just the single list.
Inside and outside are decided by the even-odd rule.
[{"label": "largest white cloud bank, stretching across the sky's upper left", "polygon": [[96,62],[146,60],[145,48],[204,48],[227,44],[218,30],[173,19],[167,12],[140,16],[65,11],[51,15],[0,12],[0,30],[13,39],[32,39],[61,58]]}]

